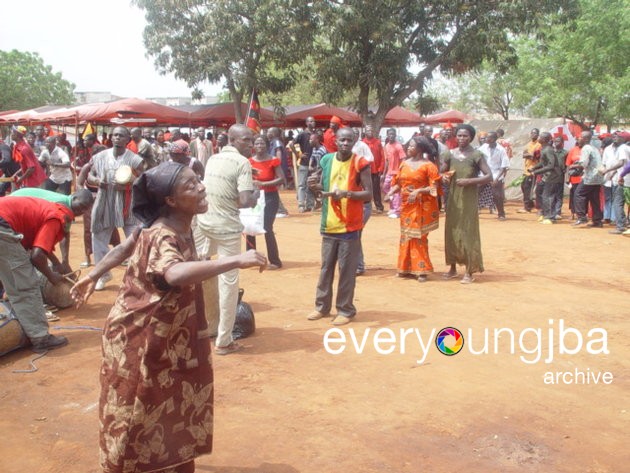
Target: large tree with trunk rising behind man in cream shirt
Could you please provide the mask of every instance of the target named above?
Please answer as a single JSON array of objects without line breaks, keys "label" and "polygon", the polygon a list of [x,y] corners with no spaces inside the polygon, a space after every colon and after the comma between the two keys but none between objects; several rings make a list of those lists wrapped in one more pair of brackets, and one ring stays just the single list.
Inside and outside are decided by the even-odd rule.
[{"label": "large tree with trunk rising behind man in cream shirt", "polygon": [[[255,87],[282,92],[311,46],[310,2],[134,0],[145,11],[144,43],[160,72],[194,88],[224,81],[235,105]],[[242,121],[240,108],[236,117]]]}]

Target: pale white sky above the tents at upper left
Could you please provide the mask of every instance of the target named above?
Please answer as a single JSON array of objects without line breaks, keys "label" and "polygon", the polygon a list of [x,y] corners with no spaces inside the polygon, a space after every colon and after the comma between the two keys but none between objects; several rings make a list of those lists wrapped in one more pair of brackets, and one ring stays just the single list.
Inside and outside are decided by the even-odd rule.
[{"label": "pale white sky above the tents at upper left", "polygon": [[[145,57],[144,13],[130,0],[31,0],[2,5],[0,50],[38,53],[75,92],[121,97],[189,97],[186,83],[162,76]],[[206,95],[219,85],[202,84]]]}]

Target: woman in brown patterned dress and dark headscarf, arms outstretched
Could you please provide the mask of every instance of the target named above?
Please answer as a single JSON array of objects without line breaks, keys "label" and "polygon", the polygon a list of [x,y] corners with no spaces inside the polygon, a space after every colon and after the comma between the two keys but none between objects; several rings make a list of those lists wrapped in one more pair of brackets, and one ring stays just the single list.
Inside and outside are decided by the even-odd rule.
[{"label": "woman in brown patterned dress and dark headscarf, arms outstretched", "polygon": [[190,224],[207,209],[197,175],[178,163],[146,171],[133,188],[145,228],[107,317],[101,368],[105,473],[189,473],[212,451],[213,372],[200,283],[265,267],[249,251],[197,261]]}]

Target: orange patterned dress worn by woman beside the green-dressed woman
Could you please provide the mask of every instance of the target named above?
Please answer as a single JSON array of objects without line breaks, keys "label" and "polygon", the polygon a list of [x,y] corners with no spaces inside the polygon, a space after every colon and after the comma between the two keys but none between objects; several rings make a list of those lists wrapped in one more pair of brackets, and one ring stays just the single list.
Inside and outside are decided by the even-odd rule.
[{"label": "orange patterned dress worn by woman beside the green-dressed woman", "polygon": [[438,228],[440,209],[437,196],[419,194],[414,203],[409,194],[418,188],[433,186],[440,181],[437,167],[432,162],[421,163],[413,169],[404,161],[393,184],[400,186],[402,206],[400,211],[400,245],[398,248],[398,273],[420,276],[433,272],[429,258],[427,234]]}]

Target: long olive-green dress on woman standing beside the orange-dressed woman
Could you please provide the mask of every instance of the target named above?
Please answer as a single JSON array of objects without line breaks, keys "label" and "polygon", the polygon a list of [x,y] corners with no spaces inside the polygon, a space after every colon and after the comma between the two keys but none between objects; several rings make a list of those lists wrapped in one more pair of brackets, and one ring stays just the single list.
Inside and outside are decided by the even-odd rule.
[{"label": "long olive-green dress on woman standing beside the orange-dressed woman", "polygon": [[453,149],[447,157],[451,178],[446,207],[444,244],[446,264],[463,264],[468,273],[483,272],[477,186],[460,187],[457,179],[479,176],[479,163],[483,153],[469,146],[465,150]]}]

